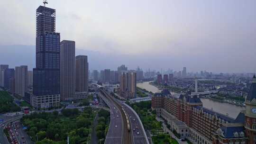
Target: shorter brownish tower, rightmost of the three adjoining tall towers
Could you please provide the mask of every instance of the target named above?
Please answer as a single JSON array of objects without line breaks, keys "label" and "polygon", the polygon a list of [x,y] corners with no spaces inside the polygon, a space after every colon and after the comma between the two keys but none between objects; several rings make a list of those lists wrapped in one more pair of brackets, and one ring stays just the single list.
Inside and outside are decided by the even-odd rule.
[{"label": "shorter brownish tower, rightmost of the three adjoining tall towers", "polygon": [[88,92],[88,61],[86,55],[75,57],[75,90]]}]

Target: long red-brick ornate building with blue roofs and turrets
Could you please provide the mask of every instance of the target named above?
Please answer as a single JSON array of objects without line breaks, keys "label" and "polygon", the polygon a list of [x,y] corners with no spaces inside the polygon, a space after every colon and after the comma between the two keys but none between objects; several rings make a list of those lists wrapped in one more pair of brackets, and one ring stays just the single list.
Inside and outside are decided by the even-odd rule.
[{"label": "long red-brick ornate building with blue roofs and turrets", "polygon": [[[177,121],[187,133],[184,138],[193,144],[256,144],[256,76],[246,99],[246,110],[242,110],[237,118],[220,114],[204,108],[199,97],[190,92],[179,97],[156,93],[152,97],[152,109],[177,129]],[[182,127],[182,126],[180,126]]]}]

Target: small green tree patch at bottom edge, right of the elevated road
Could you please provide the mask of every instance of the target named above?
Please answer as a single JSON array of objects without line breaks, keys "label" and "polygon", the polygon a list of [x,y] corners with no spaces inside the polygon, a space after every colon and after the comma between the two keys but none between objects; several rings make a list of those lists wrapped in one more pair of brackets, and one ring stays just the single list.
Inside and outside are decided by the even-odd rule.
[{"label": "small green tree patch at bottom edge, right of the elevated road", "polygon": [[178,144],[175,139],[166,134],[152,136],[152,140],[154,144]]}]

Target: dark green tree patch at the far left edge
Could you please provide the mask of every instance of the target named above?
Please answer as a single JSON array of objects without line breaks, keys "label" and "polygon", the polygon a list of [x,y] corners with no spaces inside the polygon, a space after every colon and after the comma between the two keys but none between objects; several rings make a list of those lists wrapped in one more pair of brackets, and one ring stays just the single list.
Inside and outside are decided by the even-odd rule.
[{"label": "dark green tree patch at the far left edge", "polygon": [[13,98],[7,91],[0,91],[0,113],[16,112],[20,111],[20,108],[13,103]]}]

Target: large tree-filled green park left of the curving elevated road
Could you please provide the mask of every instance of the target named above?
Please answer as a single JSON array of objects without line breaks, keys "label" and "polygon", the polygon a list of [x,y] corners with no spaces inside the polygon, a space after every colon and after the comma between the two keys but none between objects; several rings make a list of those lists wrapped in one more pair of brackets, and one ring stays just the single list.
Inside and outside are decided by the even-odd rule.
[{"label": "large tree-filled green park left of the curving elevated road", "polygon": [[78,109],[63,109],[61,114],[34,113],[22,117],[27,134],[36,144],[87,144],[90,141],[91,124],[96,115],[90,107],[83,112]]}]

